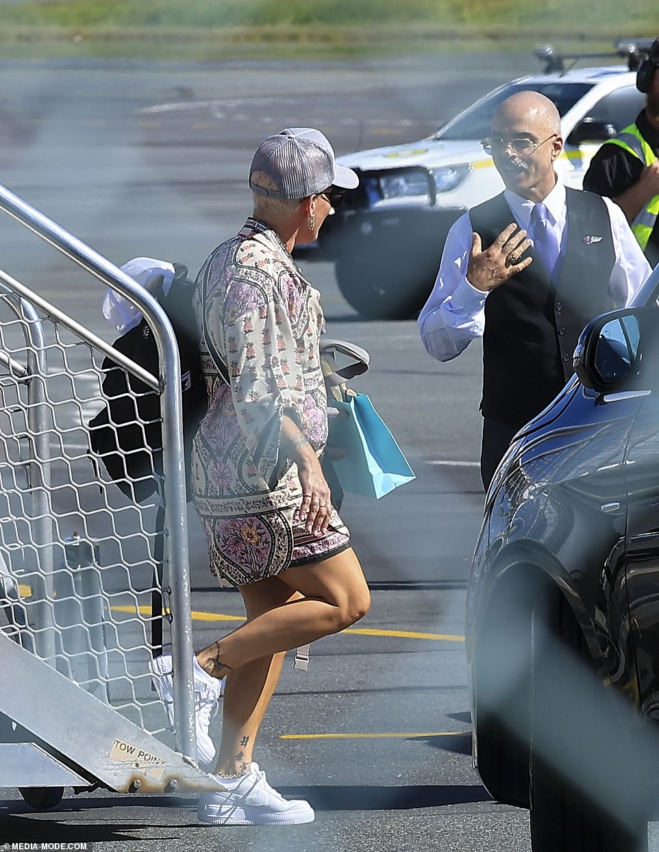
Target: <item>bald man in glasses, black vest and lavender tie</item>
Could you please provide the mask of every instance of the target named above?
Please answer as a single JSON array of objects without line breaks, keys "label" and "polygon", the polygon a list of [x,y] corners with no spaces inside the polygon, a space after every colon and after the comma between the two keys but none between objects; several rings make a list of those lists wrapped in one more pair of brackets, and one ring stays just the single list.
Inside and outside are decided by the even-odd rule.
[{"label": "bald man in glasses, black vest and lavender tie", "polygon": [[440,361],[483,337],[487,488],[512,436],[572,375],[583,327],[631,302],[650,266],[616,204],[558,181],[560,116],[544,95],[503,101],[483,147],[506,189],[448,232],[419,331]]}]

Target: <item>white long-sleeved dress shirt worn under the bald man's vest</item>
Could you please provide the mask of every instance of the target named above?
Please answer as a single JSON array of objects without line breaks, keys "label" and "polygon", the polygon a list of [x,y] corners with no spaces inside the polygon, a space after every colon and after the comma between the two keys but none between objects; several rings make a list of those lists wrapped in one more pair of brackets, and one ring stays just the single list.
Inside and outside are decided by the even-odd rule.
[{"label": "white long-sleeved dress shirt worn under the bald man's vest", "polygon": [[[527,230],[534,202],[523,199],[509,189],[505,190],[504,198],[519,227]],[[609,279],[609,293],[616,305],[622,308],[631,302],[651,269],[625,214],[611,199],[603,201],[609,210],[613,250],[616,253],[616,262]],[[563,254],[567,239],[567,205],[565,187],[560,181],[546,196],[544,203]],[[475,337],[483,337],[487,293],[472,287],[466,279],[472,233],[471,219],[465,213],[448,232],[435,286],[419,314],[421,340],[429,354],[440,361],[455,358]],[[486,248],[488,246],[483,245],[483,250]],[[505,287],[506,284],[501,286]]]}]

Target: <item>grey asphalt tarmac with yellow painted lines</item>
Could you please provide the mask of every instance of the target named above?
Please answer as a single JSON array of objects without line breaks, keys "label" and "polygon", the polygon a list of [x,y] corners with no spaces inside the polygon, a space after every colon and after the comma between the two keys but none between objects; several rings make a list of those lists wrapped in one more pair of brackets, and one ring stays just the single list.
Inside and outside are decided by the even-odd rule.
[{"label": "grey asphalt tarmac with yellow painted lines", "polygon": [[[196,272],[249,212],[246,171],[271,132],[315,125],[338,153],[427,135],[495,83],[535,70],[526,55],[337,64],[4,63],[0,181],[114,262],[165,257]],[[102,289],[3,216],[0,265],[107,340]],[[312,647],[309,672],[286,661],[258,757],[313,826],[199,826],[192,797],[95,792],[38,813],[6,789],[2,843],[96,849],[529,849],[528,816],[494,803],[471,767],[464,602],[481,523],[482,352],[436,364],[413,321],[361,319],[328,264],[303,263],[332,337],[367,348],[354,383],[371,396],[417,473],[342,514],[373,591],[354,630]],[[240,623],[218,590],[190,518],[195,643]],[[234,621],[230,619],[235,619]],[[5,685],[3,688],[8,688]],[[10,688],[10,687],[9,687]],[[38,684],[35,685],[38,700]],[[45,708],[44,708],[45,709]],[[211,726],[217,741],[218,716]],[[7,847],[4,847],[7,849]]]}]

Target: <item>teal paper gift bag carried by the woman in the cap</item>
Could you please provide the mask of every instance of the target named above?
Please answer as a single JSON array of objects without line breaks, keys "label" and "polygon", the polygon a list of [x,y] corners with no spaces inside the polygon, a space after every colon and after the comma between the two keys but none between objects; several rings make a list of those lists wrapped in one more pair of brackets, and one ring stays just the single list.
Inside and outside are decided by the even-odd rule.
[{"label": "teal paper gift bag carried by the woman in the cap", "polygon": [[408,460],[366,394],[350,394],[344,401],[329,399],[327,404],[344,415],[330,417],[327,441],[328,449],[347,451],[328,462],[344,492],[380,498],[414,479]]}]

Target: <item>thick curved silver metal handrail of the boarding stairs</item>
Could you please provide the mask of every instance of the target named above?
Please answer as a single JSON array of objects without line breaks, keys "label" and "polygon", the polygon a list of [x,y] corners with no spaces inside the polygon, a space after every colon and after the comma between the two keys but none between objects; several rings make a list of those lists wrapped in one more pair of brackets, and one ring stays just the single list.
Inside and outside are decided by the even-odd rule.
[{"label": "thick curved silver metal handrail of the boarding stairs", "polygon": [[[103,285],[127,298],[138,308],[153,330],[159,354],[159,377],[155,387],[161,389],[161,415],[163,435],[163,473],[165,476],[165,530],[176,570],[170,572],[172,599],[176,605],[176,619],[172,622],[171,647],[176,669],[174,679],[176,723],[176,747],[188,757],[196,755],[194,726],[194,676],[191,594],[188,562],[188,515],[186,502],[183,429],[181,364],[176,336],[171,322],[159,302],[141,285],[115,266],[107,258],[85,245],[82,240],[67,232],[36,208],[27,204],[9,189],[0,185],[0,210],[12,216],[49,245],[53,245],[72,262],[84,268]],[[10,276],[3,276],[4,283],[11,287],[18,284]],[[33,294],[30,295],[34,301]],[[49,311],[52,308],[49,306]],[[72,322],[65,314],[61,321]],[[75,324],[78,325],[78,324]],[[93,340],[97,337],[78,325],[74,328],[81,337]],[[102,343],[102,342],[101,342]],[[107,344],[102,344],[107,347]],[[114,357],[114,355],[113,355]],[[144,377],[153,386],[153,377]]]}]

